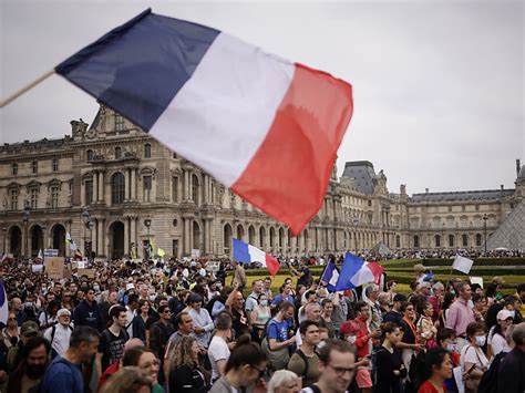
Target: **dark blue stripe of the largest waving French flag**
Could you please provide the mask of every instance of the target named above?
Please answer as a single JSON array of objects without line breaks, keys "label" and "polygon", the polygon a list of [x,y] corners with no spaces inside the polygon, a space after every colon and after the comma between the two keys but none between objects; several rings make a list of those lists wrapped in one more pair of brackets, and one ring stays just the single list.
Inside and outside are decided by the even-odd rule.
[{"label": "dark blue stripe of the largest waving French flag", "polygon": [[148,9],[60,63],[55,72],[148,131],[219,33]]}]

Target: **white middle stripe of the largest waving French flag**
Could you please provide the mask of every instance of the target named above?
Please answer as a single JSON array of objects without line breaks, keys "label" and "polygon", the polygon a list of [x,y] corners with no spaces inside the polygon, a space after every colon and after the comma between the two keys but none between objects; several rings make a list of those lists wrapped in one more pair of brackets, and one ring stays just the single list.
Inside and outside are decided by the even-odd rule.
[{"label": "white middle stripe of the largest waving French flag", "polygon": [[230,187],[265,139],[294,71],[220,33],[150,134]]}]

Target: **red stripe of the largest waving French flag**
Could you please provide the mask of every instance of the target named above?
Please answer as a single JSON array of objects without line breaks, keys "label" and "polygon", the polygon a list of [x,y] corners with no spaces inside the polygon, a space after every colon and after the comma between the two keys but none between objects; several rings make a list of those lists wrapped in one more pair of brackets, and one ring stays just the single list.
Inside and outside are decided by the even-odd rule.
[{"label": "red stripe of the largest waving French flag", "polygon": [[352,111],[350,84],[296,64],[265,141],[231,189],[298,235],[325,200]]}]

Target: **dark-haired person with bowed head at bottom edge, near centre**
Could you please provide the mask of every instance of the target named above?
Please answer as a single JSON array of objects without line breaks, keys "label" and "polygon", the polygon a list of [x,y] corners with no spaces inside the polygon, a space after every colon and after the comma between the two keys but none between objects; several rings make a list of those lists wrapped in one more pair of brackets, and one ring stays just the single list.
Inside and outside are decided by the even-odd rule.
[{"label": "dark-haired person with bowed head at bottom edge, near centre", "polygon": [[[294,309],[294,306],[291,308]],[[244,338],[246,340],[237,341],[226,363],[225,374],[215,382],[210,393],[240,392],[243,389],[251,393],[267,391],[262,379],[266,371],[266,353],[259,344],[250,342],[248,335]]]}]

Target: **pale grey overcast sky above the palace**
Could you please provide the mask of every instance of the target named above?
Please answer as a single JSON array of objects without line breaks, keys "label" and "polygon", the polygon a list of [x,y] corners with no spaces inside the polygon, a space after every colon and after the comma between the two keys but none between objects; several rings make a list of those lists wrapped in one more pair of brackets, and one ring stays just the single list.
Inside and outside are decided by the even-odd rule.
[{"label": "pale grey overcast sky above the palace", "polygon": [[[350,82],[339,174],[368,159],[412,194],[511,188],[525,164],[521,0],[0,2],[2,99],[152,7]],[[96,110],[53,75],[1,110],[0,142],[63,137]]]}]

